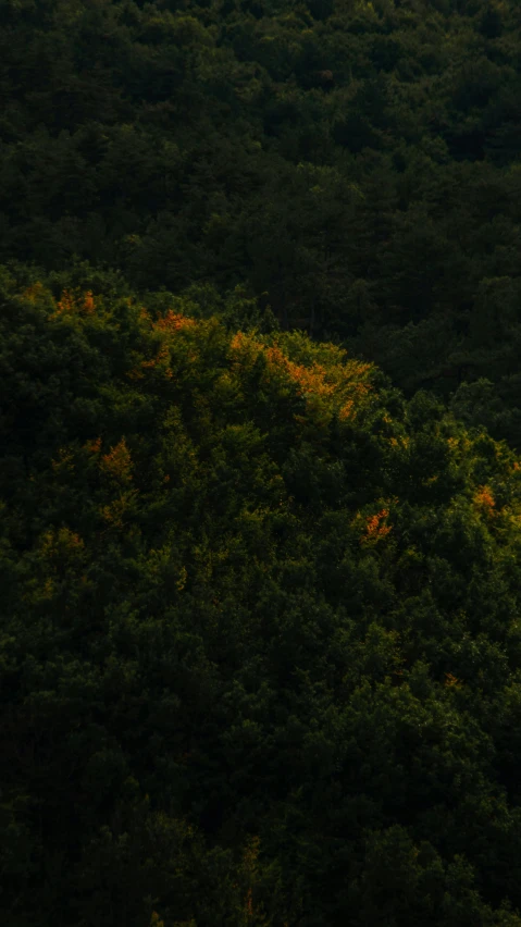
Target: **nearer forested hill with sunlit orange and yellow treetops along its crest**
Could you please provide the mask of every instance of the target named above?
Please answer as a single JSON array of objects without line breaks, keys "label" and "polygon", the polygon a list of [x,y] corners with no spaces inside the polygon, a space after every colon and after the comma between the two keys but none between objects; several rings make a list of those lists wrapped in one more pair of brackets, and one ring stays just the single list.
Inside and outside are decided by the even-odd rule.
[{"label": "nearer forested hill with sunlit orange and yellow treetops along its crest", "polygon": [[2,924],[519,927],[514,454],[62,284],[1,276]]}]

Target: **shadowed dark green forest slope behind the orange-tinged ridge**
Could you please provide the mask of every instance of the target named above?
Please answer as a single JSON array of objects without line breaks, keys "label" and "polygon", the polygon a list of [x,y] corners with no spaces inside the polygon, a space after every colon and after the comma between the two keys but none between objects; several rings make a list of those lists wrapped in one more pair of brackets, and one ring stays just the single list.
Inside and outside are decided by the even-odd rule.
[{"label": "shadowed dark green forest slope behind the orange-tinged ridge", "polygon": [[521,446],[517,2],[1,0],[0,20],[0,260],[239,284]]}]

